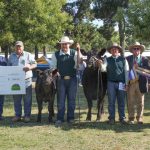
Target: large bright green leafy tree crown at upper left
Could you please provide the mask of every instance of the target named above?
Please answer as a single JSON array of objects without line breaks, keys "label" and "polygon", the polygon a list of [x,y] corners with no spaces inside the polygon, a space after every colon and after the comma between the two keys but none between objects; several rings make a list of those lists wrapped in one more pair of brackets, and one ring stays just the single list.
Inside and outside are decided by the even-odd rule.
[{"label": "large bright green leafy tree crown at upper left", "polygon": [[[70,26],[71,17],[62,7],[65,0],[2,0],[0,44],[22,40],[26,45],[55,45]],[[1,6],[1,5],[0,5]],[[7,36],[9,35],[9,36]],[[4,37],[6,37],[4,39]]]}]

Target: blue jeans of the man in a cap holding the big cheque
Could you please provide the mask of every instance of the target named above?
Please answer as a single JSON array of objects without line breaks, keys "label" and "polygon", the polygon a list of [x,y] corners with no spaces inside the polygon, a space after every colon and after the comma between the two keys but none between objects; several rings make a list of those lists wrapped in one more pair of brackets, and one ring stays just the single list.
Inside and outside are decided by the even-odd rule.
[{"label": "blue jeans of the man in a cap holding the big cheque", "polygon": [[32,106],[32,85],[26,88],[25,95],[13,95],[15,116],[22,116],[22,99],[24,101],[24,117],[31,116],[31,106]]}]

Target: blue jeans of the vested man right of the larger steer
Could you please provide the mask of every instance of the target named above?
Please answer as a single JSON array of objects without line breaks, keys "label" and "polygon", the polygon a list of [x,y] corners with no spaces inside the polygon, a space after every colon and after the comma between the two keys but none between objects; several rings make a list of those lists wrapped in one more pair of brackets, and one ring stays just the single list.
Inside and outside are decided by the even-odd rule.
[{"label": "blue jeans of the vested man right of the larger steer", "polygon": [[117,99],[118,102],[118,113],[119,120],[125,119],[125,96],[126,92],[119,90],[119,83],[110,82],[107,83],[107,92],[108,92],[108,112],[109,119],[115,120],[115,102]]}]

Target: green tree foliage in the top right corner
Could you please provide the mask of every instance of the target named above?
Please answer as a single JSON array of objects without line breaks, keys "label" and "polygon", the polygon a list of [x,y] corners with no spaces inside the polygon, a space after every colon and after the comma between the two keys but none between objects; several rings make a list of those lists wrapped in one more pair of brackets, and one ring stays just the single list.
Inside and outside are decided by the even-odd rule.
[{"label": "green tree foliage in the top right corner", "polygon": [[128,10],[130,31],[132,31],[132,37],[143,44],[149,43],[150,40],[149,8],[149,0],[130,0],[130,9]]}]

